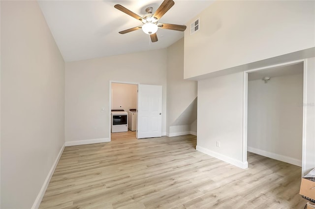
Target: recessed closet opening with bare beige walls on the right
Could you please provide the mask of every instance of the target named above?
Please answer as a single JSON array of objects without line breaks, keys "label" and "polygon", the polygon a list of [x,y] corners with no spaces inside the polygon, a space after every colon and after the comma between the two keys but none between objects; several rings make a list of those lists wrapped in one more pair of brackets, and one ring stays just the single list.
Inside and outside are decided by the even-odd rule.
[{"label": "recessed closet opening with bare beige walls on the right", "polygon": [[252,161],[267,163],[265,157],[269,157],[296,165],[283,163],[299,173],[303,153],[303,61],[245,74],[249,166]]}]

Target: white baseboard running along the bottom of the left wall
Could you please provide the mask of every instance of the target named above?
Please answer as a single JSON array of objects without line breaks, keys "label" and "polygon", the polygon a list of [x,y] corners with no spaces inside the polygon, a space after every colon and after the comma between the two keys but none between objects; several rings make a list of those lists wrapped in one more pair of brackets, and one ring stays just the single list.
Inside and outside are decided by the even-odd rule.
[{"label": "white baseboard running along the bottom of the left wall", "polygon": [[40,191],[39,191],[39,193],[38,193],[38,195],[37,195],[37,197],[33,203],[32,209],[38,209],[38,207],[39,207],[39,205],[40,205],[40,203],[44,197],[44,194],[46,192],[46,189],[47,189],[47,186],[50,182],[50,179],[55,172],[55,169],[56,169],[56,166],[59,162],[59,159],[60,159],[61,155],[63,154],[63,150],[64,150],[64,144],[63,144],[62,148],[60,149],[58,156],[57,156],[55,162],[53,163],[53,165],[52,165],[52,167],[51,167],[51,169],[50,169],[50,171],[49,171],[49,173],[48,173],[48,175],[47,175],[47,177],[46,177],[46,179],[45,179],[45,181],[44,181],[44,183],[43,183],[43,185],[42,185],[42,187],[41,187],[41,189],[40,189]]}]

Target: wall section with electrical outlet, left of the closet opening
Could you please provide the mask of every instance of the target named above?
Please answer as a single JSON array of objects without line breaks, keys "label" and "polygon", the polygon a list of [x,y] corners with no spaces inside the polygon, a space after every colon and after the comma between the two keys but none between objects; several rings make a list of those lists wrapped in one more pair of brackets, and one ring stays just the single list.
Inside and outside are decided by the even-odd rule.
[{"label": "wall section with electrical outlet, left of the closet opening", "polygon": [[198,81],[197,124],[198,151],[246,167],[242,162],[243,72]]}]

